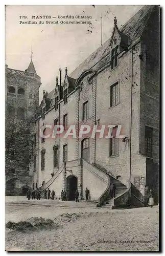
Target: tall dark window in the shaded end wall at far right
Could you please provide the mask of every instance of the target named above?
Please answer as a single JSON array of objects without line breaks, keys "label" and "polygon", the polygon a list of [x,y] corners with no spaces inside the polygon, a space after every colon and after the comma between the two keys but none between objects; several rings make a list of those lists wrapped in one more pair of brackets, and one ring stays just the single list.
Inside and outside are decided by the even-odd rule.
[{"label": "tall dark window in the shaded end wall at far right", "polygon": [[153,128],[145,126],[145,155],[152,157]]}]

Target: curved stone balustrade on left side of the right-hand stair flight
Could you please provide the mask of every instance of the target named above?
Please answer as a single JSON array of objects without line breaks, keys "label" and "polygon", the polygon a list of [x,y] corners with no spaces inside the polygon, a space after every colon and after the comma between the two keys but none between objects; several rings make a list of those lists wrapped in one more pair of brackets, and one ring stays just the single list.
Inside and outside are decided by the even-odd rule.
[{"label": "curved stone balustrade on left side of the right-hand stair flight", "polygon": [[82,165],[86,167],[90,172],[93,172],[95,175],[97,175],[102,181],[104,181],[107,185],[106,189],[103,191],[101,196],[98,199],[99,205],[102,205],[103,201],[107,198],[110,190],[110,177],[108,174],[106,174],[103,170],[93,166],[92,164],[86,162],[84,159],[82,159]]}]

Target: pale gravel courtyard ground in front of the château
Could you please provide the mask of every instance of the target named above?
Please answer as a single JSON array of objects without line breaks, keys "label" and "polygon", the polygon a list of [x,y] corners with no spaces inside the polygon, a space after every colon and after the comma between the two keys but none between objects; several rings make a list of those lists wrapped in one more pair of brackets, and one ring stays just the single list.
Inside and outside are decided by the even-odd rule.
[{"label": "pale gravel courtyard ground in front of the ch\u00e2teau", "polygon": [[110,210],[86,202],[6,197],[6,223],[37,217],[58,228],[6,228],[7,251],[158,251],[157,206]]}]

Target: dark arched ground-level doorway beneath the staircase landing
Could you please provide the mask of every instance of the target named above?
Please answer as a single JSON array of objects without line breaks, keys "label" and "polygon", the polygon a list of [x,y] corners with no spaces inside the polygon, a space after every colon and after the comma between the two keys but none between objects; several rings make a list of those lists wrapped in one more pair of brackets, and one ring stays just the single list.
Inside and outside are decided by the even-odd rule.
[{"label": "dark arched ground-level doorway beneath the staircase landing", "polygon": [[75,191],[77,190],[77,177],[69,175],[66,178],[67,200],[75,200]]}]

